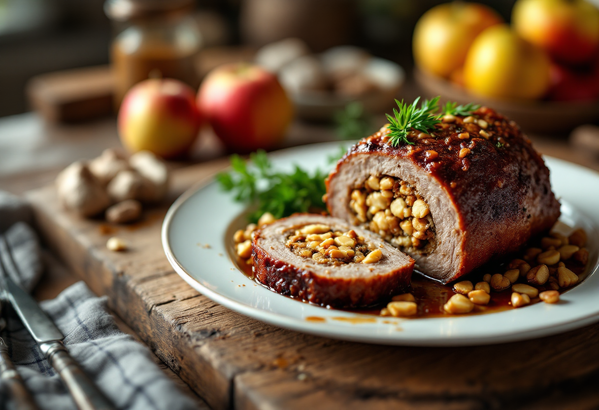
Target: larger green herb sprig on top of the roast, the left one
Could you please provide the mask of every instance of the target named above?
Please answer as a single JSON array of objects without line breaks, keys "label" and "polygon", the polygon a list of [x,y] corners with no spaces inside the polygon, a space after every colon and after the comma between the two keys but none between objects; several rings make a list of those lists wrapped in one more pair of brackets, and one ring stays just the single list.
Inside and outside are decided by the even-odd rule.
[{"label": "larger green herb sprig on top of the roast, the left one", "polygon": [[395,117],[385,114],[389,120],[389,142],[392,146],[398,146],[400,143],[414,144],[408,140],[408,132],[410,129],[418,129],[418,131],[428,133],[429,129],[434,129],[435,125],[440,123],[439,115],[435,112],[439,109],[439,98],[435,97],[432,100],[424,100],[418,108],[420,97],[416,98],[412,104],[404,103],[404,100],[397,101],[397,111],[393,108]]}]

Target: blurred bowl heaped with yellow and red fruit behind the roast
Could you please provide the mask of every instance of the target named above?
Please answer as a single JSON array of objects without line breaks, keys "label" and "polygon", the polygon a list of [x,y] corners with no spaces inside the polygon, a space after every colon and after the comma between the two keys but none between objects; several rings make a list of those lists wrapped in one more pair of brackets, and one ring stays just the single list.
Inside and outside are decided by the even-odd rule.
[{"label": "blurred bowl heaped with yellow and red fruit behind the roast", "polygon": [[452,2],[418,21],[423,92],[491,105],[527,132],[599,119],[599,10],[585,0],[518,0],[510,25],[482,4]]}]

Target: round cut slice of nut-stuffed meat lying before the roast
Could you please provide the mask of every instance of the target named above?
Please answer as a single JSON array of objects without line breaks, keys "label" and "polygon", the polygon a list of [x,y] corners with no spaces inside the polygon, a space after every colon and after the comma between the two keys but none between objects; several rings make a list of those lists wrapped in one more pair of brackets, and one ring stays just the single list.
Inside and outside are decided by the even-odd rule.
[{"label": "round cut slice of nut-stuffed meat lying before the roast", "polygon": [[330,216],[297,214],[254,233],[256,279],[322,306],[383,302],[410,285],[414,260],[370,232]]}]

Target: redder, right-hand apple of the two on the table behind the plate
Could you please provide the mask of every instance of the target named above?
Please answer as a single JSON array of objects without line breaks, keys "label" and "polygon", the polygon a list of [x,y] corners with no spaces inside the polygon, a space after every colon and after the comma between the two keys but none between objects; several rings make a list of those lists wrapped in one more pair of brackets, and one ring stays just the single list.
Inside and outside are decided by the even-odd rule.
[{"label": "redder, right-hand apple of the two on the table behind the plate", "polygon": [[222,65],[208,73],[199,88],[198,107],[232,152],[276,146],[293,116],[277,77],[247,63]]}]

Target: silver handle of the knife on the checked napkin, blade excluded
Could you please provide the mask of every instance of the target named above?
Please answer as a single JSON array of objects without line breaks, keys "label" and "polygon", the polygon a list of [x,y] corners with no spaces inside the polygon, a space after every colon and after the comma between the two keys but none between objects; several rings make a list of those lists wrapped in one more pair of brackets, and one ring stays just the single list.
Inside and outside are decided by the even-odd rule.
[{"label": "silver handle of the knife on the checked napkin, blade excluded", "polygon": [[56,370],[80,410],[116,410],[113,404],[98,390],[79,364],[68,354],[61,342],[40,345],[50,365]]}]

